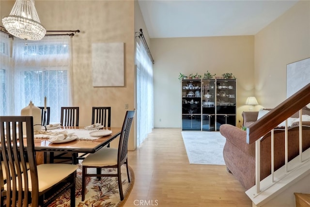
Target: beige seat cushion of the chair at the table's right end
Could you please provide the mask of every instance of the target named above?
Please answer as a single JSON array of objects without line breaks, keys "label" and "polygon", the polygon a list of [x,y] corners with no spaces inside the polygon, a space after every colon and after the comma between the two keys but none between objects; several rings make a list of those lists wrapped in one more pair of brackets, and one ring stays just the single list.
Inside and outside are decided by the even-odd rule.
[{"label": "beige seat cushion of the chair at the table's right end", "polygon": [[118,150],[110,147],[103,147],[93,154],[89,154],[83,161],[83,166],[112,166],[117,164]]}]

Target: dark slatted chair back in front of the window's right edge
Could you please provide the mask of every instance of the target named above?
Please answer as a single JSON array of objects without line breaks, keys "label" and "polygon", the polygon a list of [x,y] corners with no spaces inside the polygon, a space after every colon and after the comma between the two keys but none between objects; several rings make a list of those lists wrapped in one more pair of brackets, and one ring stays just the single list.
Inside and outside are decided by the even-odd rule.
[{"label": "dark slatted chair back in front of the window's right edge", "polygon": [[63,127],[78,127],[79,107],[61,107],[60,123]]}]

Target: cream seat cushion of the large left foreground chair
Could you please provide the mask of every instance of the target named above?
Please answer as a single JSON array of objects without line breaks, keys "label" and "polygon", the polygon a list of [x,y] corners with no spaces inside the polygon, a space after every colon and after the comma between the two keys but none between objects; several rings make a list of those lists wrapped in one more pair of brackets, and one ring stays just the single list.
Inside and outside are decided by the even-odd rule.
[{"label": "cream seat cushion of the large left foreground chair", "polygon": [[[78,165],[41,164],[37,166],[37,169],[38,169],[39,192],[42,192],[52,187],[53,185],[57,184],[68,175],[75,172],[78,169]],[[30,178],[30,170],[28,170],[28,176]],[[4,190],[7,190],[7,184],[4,185]],[[29,191],[32,191],[31,181],[29,182]]]}]

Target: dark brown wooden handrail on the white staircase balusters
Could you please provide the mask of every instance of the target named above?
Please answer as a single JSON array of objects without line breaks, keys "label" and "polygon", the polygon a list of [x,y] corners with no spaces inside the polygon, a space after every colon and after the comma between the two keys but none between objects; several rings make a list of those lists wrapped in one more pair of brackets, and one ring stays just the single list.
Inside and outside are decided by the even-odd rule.
[{"label": "dark brown wooden handrail on the white staircase balusters", "polygon": [[310,103],[310,83],[247,128],[247,143],[254,143]]}]

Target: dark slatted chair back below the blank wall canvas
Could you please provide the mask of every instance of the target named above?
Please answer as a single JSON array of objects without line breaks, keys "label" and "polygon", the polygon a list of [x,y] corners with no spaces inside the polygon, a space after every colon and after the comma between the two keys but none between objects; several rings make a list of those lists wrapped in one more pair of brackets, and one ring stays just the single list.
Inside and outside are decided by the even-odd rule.
[{"label": "dark slatted chair back below the blank wall canvas", "polygon": [[93,107],[92,124],[111,127],[111,107]]}]

